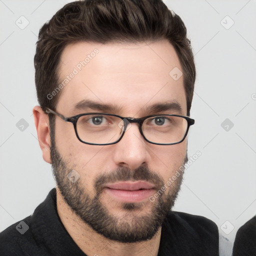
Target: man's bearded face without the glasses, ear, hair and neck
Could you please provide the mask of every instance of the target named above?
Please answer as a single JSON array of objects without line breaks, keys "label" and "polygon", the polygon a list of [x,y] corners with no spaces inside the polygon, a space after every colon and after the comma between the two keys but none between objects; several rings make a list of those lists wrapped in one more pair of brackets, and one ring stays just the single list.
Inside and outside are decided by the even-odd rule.
[{"label": "man's bearded face without the glasses, ear, hair and neck", "polygon": [[[94,49],[98,52],[90,54]],[[89,61],[79,65],[87,54]],[[61,90],[56,111],[68,117],[86,112],[124,117],[186,115],[183,77],[174,80],[169,75],[174,67],[181,70],[177,54],[167,40],[67,45],[61,54],[59,82],[71,72],[75,75],[71,75],[73,78],[69,75],[70,80]],[[111,105],[113,109],[81,104],[75,109],[81,100]],[[149,111],[152,105],[169,102],[179,103],[181,111]],[[51,161],[57,189],[85,223],[105,237],[121,242],[146,240],[155,235],[173,206],[182,174],[170,185],[166,183],[186,160],[186,139],[174,145],[151,144],[143,139],[137,123],[131,123],[122,139],[112,145],[80,142],[73,124],[59,117],[55,119],[55,132],[51,133]],[[68,179],[71,170],[79,177],[75,182]],[[106,187],[123,181],[128,185],[148,182],[152,188],[142,192],[118,189],[116,193]],[[161,190],[163,186],[165,189]],[[154,196],[157,191],[158,196]],[[152,196],[154,200],[149,200]]]}]

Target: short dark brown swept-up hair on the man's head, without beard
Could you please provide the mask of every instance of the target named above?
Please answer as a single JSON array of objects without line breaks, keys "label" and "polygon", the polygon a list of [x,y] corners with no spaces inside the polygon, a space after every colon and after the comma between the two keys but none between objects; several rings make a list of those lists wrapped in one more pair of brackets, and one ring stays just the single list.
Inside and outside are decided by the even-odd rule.
[{"label": "short dark brown swept-up hair on the man's head, without beard", "polygon": [[161,0],[83,0],[65,4],[39,31],[34,56],[37,98],[43,110],[55,109],[60,93],[58,64],[64,47],[73,42],[143,42],[168,39],[178,55],[189,116],[195,81],[190,40],[181,18]]}]

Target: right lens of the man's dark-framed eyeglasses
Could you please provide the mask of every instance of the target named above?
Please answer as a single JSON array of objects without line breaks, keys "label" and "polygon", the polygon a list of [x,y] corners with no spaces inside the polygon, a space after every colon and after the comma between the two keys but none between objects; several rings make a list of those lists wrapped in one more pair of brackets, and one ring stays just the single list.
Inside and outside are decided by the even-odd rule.
[{"label": "right lens of the man's dark-framed eyeglasses", "polygon": [[187,120],[179,116],[159,115],[144,120],[142,131],[145,138],[153,143],[170,144],[183,139]]}]

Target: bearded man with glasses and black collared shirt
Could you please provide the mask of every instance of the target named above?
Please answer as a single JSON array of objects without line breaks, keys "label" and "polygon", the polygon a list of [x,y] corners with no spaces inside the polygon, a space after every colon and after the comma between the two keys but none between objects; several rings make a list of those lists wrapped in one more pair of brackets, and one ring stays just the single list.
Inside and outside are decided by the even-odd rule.
[{"label": "bearded man with glasses and black collared shirt", "polygon": [[171,211],[195,66],[160,0],[66,4],[39,32],[33,108],[56,189],[0,234],[1,255],[217,255],[218,230]]}]

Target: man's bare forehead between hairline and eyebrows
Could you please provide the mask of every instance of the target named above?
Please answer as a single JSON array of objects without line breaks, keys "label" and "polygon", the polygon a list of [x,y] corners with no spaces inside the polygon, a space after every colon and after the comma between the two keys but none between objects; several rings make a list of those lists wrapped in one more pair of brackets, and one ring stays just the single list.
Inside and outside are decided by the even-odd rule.
[{"label": "man's bare forehead between hairline and eyebrows", "polygon": [[[174,71],[172,71],[174,70]],[[71,114],[81,100],[112,104],[118,114],[139,114],[156,103],[177,102],[186,112],[183,76],[167,40],[140,43],[77,42],[60,57],[57,109]]]}]

